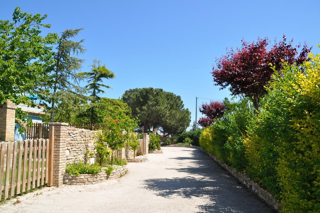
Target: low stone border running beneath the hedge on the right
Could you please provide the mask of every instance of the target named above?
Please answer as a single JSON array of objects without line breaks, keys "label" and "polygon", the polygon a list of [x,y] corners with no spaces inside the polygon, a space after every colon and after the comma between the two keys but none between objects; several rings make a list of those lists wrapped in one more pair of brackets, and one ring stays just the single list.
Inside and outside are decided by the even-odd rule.
[{"label": "low stone border running beneath the hedge on the right", "polygon": [[207,153],[210,158],[212,158],[215,162],[217,162],[220,166],[222,166],[225,170],[227,170],[232,176],[234,176],[238,181],[240,181],[243,185],[245,185],[248,189],[251,190],[252,193],[257,195],[261,200],[263,200],[268,206],[272,209],[279,211],[282,209],[280,204],[280,200],[276,200],[270,192],[266,189],[262,188],[258,183],[254,182],[249,178],[248,175],[242,174],[240,172],[236,172],[236,170],[225,163],[222,163],[217,157],[206,152],[204,149],[199,147],[203,152]]}]

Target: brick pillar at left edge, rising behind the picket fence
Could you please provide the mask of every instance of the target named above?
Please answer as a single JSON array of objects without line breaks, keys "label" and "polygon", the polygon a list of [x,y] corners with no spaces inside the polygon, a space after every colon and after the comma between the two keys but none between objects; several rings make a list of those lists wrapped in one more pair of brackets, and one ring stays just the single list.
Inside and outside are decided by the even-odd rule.
[{"label": "brick pillar at left edge, rising behind the picket fence", "polygon": [[0,141],[14,141],[16,108],[10,100],[0,106]]}]

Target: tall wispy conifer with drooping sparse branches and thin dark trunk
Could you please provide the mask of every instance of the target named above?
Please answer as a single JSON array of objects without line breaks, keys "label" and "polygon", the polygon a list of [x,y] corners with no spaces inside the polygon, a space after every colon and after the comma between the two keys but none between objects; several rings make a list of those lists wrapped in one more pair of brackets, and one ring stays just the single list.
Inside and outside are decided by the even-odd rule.
[{"label": "tall wispy conifer with drooping sparse branches and thin dark trunk", "polygon": [[[55,114],[59,109],[56,107],[56,102],[61,101],[61,98],[69,97],[70,100],[73,96],[78,94],[84,94],[86,90],[80,87],[78,84],[83,80],[83,76],[78,73],[82,68],[83,59],[79,59],[76,56],[83,54],[85,49],[82,43],[84,39],[80,41],[72,41],[71,38],[75,38],[83,28],[75,30],[65,30],[61,33],[61,36],[57,42],[56,53],[54,55],[55,63],[51,66],[51,83],[48,85],[50,95],[44,97],[46,101],[51,103],[51,107],[47,107],[47,112],[51,114],[50,121],[57,121]],[[78,98],[84,98],[79,96]],[[82,101],[85,101],[83,99]],[[42,104],[46,105],[45,102]]]}]

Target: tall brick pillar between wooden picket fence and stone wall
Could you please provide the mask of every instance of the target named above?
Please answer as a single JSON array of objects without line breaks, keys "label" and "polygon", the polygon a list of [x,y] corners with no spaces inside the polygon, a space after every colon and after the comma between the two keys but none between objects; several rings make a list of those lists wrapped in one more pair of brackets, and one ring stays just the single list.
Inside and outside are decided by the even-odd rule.
[{"label": "tall brick pillar between wooden picket fence and stone wall", "polygon": [[53,178],[54,186],[63,184],[63,175],[66,173],[67,150],[67,123],[49,123],[54,126],[53,143]]}]

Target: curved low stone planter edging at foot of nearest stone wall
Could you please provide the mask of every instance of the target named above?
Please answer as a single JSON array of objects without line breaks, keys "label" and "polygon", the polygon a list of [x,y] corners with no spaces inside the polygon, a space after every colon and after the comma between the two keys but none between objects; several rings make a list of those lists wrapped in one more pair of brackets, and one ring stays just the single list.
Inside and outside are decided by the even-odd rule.
[{"label": "curved low stone planter edging at foot of nearest stone wall", "polygon": [[98,174],[83,174],[83,175],[69,175],[63,176],[63,183],[68,185],[87,185],[100,183],[103,180],[112,180],[123,176],[128,171],[127,165],[123,165],[117,170],[113,170],[111,175],[106,172],[100,172]]}]

